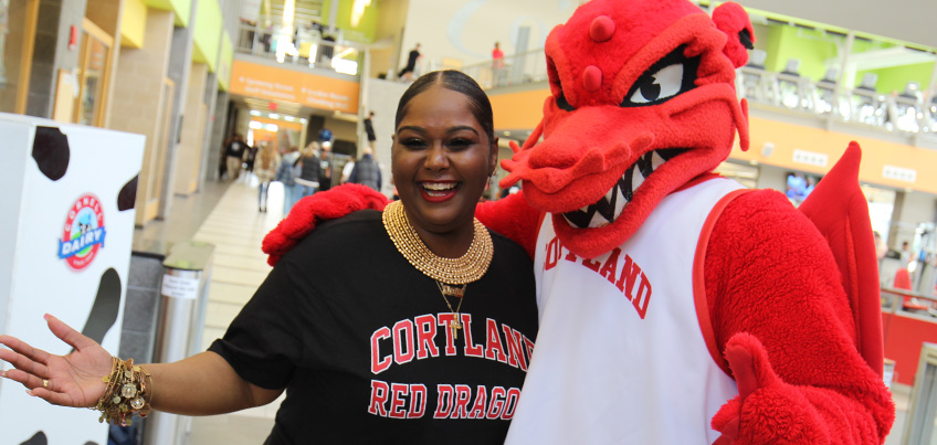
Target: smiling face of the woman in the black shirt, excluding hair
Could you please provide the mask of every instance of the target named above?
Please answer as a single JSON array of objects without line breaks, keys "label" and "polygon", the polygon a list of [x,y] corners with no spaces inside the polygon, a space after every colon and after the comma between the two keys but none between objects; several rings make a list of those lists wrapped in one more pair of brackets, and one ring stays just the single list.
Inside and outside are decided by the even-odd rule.
[{"label": "smiling face of the woman in the black shirt, excluding hair", "polygon": [[444,233],[472,223],[497,161],[462,93],[434,85],[407,104],[393,136],[393,181],[417,229]]}]

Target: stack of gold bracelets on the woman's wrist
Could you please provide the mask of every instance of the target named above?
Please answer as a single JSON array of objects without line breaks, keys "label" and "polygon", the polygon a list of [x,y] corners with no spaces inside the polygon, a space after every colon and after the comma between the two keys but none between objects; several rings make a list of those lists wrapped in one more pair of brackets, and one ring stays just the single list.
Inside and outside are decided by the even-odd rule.
[{"label": "stack of gold bracelets on the woman's wrist", "polygon": [[152,400],[152,378],[143,367],[134,365],[134,359],[112,358],[110,375],[102,381],[107,385],[104,395],[92,410],[101,411],[98,422],[127,426],[134,423],[134,414],[146,417]]}]

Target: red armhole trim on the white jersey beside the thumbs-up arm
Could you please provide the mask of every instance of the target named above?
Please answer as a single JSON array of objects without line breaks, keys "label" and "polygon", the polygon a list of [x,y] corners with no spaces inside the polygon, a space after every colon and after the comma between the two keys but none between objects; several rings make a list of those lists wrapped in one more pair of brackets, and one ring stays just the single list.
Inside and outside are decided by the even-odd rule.
[{"label": "red armhole trim on the white jersey beside the thumbs-up arm", "polygon": [[[708,180],[712,179],[712,177],[704,178],[704,176],[699,176],[697,179]],[[734,199],[738,198],[739,194],[750,191],[752,190],[734,190],[713,205],[713,210],[709,211],[709,215],[706,216],[706,221],[703,222],[703,230],[699,231],[699,241],[696,242],[696,255],[693,257],[693,300],[696,305],[696,319],[699,321],[699,330],[703,331],[703,340],[706,341],[706,349],[709,350],[709,356],[713,357],[713,361],[715,361],[716,364],[722,368],[723,372],[729,377],[731,377],[731,373],[729,372],[728,363],[719,352],[718,345],[716,345],[716,335],[713,330],[713,321],[709,319],[709,305],[706,299],[705,277],[706,248],[709,245],[709,236],[713,233],[713,227],[716,225],[716,220],[718,220],[719,215],[723,214],[723,210],[726,205],[728,205],[728,203]]]}]

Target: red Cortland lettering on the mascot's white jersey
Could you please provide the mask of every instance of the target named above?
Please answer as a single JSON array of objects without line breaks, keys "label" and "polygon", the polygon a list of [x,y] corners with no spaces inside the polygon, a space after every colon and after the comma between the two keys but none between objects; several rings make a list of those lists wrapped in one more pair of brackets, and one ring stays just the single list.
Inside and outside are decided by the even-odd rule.
[{"label": "red Cortland lettering on the mascot's white jersey", "polygon": [[[580,258],[565,248],[559,239],[554,236],[546,245],[544,272],[552,269],[560,261],[580,263],[618,287],[618,290],[631,301],[634,309],[638,310],[638,315],[643,319],[648,314],[648,304],[651,303],[651,282],[630,255],[624,254],[622,258],[621,248],[615,247],[610,253],[594,259]],[[618,272],[619,269],[621,269],[621,273]]]}]

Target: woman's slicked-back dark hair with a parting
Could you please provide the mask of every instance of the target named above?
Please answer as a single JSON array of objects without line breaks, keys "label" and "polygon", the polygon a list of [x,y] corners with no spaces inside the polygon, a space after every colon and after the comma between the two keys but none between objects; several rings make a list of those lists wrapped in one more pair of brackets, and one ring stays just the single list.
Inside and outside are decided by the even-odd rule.
[{"label": "woman's slicked-back dark hair with a parting", "polygon": [[461,71],[434,71],[432,73],[423,74],[420,78],[413,82],[410,87],[403,92],[403,96],[400,96],[400,102],[397,104],[397,117],[393,124],[394,128],[399,127],[400,121],[403,120],[403,115],[407,114],[407,105],[410,100],[433,85],[439,85],[443,88],[452,89],[465,95],[465,97],[468,98],[468,103],[472,104],[472,114],[475,115],[475,120],[478,121],[482,129],[485,130],[485,135],[488,136],[488,142],[494,142],[495,126],[492,117],[492,103],[488,100],[488,96],[485,92],[482,91],[482,87],[478,86],[472,77],[468,77]]}]

